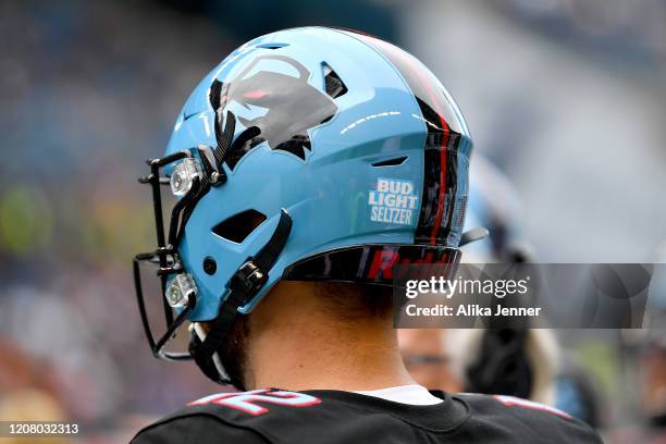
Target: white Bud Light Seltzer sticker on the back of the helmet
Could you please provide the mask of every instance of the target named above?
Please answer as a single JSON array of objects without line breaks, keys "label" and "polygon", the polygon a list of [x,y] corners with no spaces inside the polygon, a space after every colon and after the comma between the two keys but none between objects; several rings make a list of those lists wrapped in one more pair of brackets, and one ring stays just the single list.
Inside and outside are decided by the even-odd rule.
[{"label": "white Bud Light Seltzer sticker on the back of the helmet", "polygon": [[368,192],[372,222],[410,225],[419,196],[409,181],[378,178],[375,189]]}]

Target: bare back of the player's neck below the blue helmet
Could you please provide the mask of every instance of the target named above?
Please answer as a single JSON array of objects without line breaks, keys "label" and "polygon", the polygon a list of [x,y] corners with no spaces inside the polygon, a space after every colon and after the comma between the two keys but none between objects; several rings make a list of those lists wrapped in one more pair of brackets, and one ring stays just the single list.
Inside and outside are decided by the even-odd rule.
[{"label": "bare back of the player's neck below the blue helmet", "polygon": [[[262,304],[267,314],[257,313],[250,325],[248,388],[362,391],[415,383],[390,319],[335,322],[304,299]],[[283,317],[275,312],[285,307]]]}]

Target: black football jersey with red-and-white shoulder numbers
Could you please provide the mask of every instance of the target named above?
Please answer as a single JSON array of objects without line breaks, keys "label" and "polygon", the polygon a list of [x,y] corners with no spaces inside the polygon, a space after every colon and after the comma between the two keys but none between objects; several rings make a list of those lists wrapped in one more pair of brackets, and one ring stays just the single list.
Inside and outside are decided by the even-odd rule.
[{"label": "black football jersey with red-and-white shoulder numbers", "polygon": [[148,443],[601,443],[555,408],[509,396],[432,392],[430,406],[340,391],[224,393],[141,430]]}]

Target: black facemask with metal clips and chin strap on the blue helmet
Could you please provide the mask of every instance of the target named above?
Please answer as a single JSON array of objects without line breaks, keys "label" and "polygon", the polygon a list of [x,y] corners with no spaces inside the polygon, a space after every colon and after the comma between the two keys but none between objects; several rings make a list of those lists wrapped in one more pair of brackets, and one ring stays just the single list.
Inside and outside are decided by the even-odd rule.
[{"label": "black facemask with metal clips and chin strap on the blue helmet", "polygon": [[[231,143],[234,125],[235,116],[229,112],[224,130],[224,134],[229,136],[223,137],[223,140]],[[230,295],[221,304],[218,318],[210,323],[210,331],[207,332],[202,325],[193,323],[189,329],[188,351],[174,353],[165,349],[166,344],[175,336],[176,331],[197,305],[197,285],[183,264],[178,245],[197,202],[211,187],[226,182],[226,175],[221,168],[226,148],[227,146],[218,146],[215,149],[199,146],[148,161],[150,174],[140,177],[139,182],[151,186],[158,246],[155,251],[137,255],[134,258],[133,270],[141,321],[152,354],[164,360],[195,359],[201,370],[213,381],[238,384],[237,378],[232,381],[224,371],[217,348],[223,343],[226,333],[234,324],[238,307],[246,304],[266,283],[267,271],[272,268],[288,237],[292,219],[284,210],[269,243],[255,257],[248,258],[231,278],[227,283]],[[171,173],[166,175],[164,171]],[[162,196],[162,188],[165,185],[170,186],[172,195],[177,199],[171,209],[166,232],[164,231]],[[211,267],[214,267],[214,261],[212,263]],[[158,267],[156,276],[159,280],[166,331],[157,340],[144,297],[141,278],[141,266],[144,264]]]}]

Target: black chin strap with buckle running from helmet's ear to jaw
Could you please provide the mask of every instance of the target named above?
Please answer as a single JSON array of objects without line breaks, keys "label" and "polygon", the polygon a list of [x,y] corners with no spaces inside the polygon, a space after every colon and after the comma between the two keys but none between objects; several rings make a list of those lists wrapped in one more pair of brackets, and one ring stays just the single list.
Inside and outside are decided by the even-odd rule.
[{"label": "black chin strap with buckle running from helmet's ear to jaw", "polygon": [[227,296],[220,303],[218,317],[209,323],[208,333],[201,325],[195,323],[189,343],[189,354],[203,374],[220,384],[232,383],[239,386],[239,381],[230,381],[222,367],[218,350],[224,345],[224,340],[231,331],[234,320],[238,316],[238,307],[247,304],[259,293],[268,281],[269,272],[278,261],[289,233],[292,232],[292,217],[282,209],[280,221],[269,242],[250,257],[229,281]]}]

